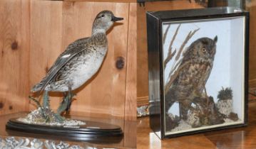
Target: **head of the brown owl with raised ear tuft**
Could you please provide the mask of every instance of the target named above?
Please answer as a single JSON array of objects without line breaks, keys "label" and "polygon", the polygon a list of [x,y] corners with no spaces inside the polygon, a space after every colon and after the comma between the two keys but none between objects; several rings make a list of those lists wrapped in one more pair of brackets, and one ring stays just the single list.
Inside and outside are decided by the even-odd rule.
[{"label": "head of the brown owl with raised ear tuft", "polygon": [[184,53],[184,58],[212,62],[216,53],[217,35],[214,39],[199,38],[195,40]]}]

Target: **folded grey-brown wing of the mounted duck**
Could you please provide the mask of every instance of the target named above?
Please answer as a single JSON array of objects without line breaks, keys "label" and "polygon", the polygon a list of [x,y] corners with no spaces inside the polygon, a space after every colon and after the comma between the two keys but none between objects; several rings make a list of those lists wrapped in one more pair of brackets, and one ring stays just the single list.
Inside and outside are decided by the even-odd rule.
[{"label": "folded grey-brown wing of the mounted duck", "polygon": [[58,71],[61,70],[67,62],[69,62],[78,53],[81,53],[81,51],[86,50],[84,44],[88,42],[88,39],[89,38],[81,38],[68,45],[66,50],[58,56],[57,60],[51,66],[46,77],[43,77],[39,84],[32,87],[31,92],[42,92],[51,79],[56,76]]}]

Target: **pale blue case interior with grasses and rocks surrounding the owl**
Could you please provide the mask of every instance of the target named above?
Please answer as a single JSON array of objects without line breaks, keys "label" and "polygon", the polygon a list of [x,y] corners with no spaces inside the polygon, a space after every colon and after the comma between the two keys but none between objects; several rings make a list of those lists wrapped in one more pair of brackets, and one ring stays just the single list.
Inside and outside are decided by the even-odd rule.
[{"label": "pale blue case interior with grasses and rocks surrounding the owl", "polygon": [[[190,38],[188,38],[189,33]],[[200,94],[206,101],[203,101],[203,104],[197,104],[192,100],[188,106],[191,108],[188,109],[188,117],[183,119],[180,116],[180,101],[175,100],[169,107],[166,104],[171,100],[170,96],[164,95],[166,135],[244,123],[244,35],[244,16],[162,23],[164,94],[175,85],[174,79],[171,78],[181,75],[181,72],[178,72],[182,67],[179,62],[184,58],[183,53],[191,50],[189,46],[200,38],[215,40],[217,37],[213,67],[208,70],[210,75],[205,78],[205,89]],[[170,60],[167,60],[168,58]],[[178,90],[173,92],[183,94]],[[205,109],[212,110],[205,111]],[[213,113],[217,115],[219,123],[211,122],[216,119],[216,117],[211,118],[214,117]]]}]

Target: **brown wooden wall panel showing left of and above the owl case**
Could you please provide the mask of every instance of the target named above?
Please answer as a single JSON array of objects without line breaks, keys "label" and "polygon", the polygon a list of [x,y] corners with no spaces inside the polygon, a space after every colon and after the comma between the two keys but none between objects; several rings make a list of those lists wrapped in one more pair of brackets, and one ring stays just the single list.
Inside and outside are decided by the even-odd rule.
[{"label": "brown wooden wall panel showing left of and above the owl case", "polygon": [[146,2],[145,6],[138,6],[138,47],[137,47],[137,96],[138,103],[145,104],[148,99],[148,48],[146,30],[146,11],[164,11],[177,9],[197,9],[202,8],[195,1],[175,0],[175,1],[155,1]]}]

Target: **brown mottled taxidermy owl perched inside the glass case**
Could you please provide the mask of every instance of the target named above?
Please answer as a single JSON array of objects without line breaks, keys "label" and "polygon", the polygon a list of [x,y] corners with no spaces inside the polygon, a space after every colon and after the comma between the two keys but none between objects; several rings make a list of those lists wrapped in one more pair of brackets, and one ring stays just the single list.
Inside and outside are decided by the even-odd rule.
[{"label": "brown mottled taxidermy owl perched inside the glass case", "polygon": [[217,36],[214,39],[199,38],[183,53],[183,59],[175,71],[175,79],[168,92],[165,92],[166,112],[174,102],[179,102],[180,116],[187,119],[193,99],[204,95],[205,84],[213,68],[216,43]]}]

